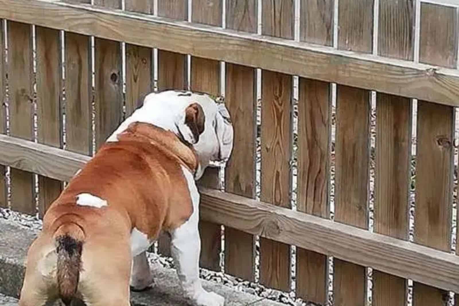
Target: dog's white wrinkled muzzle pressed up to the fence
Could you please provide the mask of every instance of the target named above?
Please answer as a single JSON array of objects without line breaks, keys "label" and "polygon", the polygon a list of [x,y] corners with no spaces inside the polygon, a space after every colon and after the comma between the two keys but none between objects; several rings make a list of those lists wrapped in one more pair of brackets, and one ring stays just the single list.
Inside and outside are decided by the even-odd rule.
[{"label": "dog's white wrinkled muzzle pressed up to the fence", "polygon": [[228,109],[224,104],[218,104],[217,126],[215,127],[219,145],[219,161],[225,161],[233,150],[234,129]]}]

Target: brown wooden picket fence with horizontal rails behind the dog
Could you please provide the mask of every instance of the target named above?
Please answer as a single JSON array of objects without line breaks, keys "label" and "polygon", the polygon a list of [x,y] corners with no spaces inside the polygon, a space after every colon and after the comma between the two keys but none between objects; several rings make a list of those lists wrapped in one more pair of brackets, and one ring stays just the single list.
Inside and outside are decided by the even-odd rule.
[{"label": "brown wooden picket fence with horizontal rails behind the dog", "polygon": [[414,282],[414,306],[444,305],[448,291],[459,293],[459,257],[451,251],[456,0],[89,2],[0,0],[0,100],[7,102],[0,108],[0,173],[11,167],[11,202],[0,175],[0,206],[35,214],[38,196],[42,216],[62,181],[93,154],[93,136],[97,148],[140,95],[156,87],[220,95],[224,67],[235,148],[225,192],[218,168],[200,182],[202,267],[220,269],[223,224],[226,273],[255,279],[259,235],[260,283],[288,291],[296,246],[296,293],[307,301],[327,303],[330,256],[337,306],[366,305],[368,267],[375,306],[405,305],[407,279]]}]

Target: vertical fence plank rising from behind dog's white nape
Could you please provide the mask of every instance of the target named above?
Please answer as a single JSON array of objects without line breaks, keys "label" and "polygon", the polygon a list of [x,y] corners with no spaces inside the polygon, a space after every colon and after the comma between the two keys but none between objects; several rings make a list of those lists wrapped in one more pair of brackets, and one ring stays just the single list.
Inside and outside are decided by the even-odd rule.
[{"label": "vertical fence plank rising from behind dog's white nape", "polygon": [[[126,11],[153,13],[153,1],[126,1]],[[134,112],[137,101],[153,88],[152,49],[126,44],[126,117]]]}]

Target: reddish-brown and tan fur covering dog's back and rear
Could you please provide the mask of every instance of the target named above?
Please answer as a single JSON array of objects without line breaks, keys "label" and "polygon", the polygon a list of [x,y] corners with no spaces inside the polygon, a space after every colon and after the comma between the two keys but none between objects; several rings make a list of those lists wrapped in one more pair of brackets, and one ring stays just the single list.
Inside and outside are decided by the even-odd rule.
[{"label": "reddish-brown and tan fur covering dog's back and rear", "polygon": [[[100,148],[46,212],[43,231],[28,252],[20,306],[78,295],[91,305],[129,305],[131,230],[156,239],[193,212],[180,167],[196,169],[190,147],[172,132],[138,122],[118,139]],[[76,205],[81,193],[108,206]],[[53,249],[57,273],[44,276],[44,258],[52,262]]]}]

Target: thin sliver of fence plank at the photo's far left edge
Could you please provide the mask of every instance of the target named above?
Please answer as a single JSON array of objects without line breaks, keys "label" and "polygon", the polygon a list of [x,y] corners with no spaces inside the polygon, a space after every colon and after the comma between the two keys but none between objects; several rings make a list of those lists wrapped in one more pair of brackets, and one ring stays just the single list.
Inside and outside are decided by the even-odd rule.
[{"label": "thin sliver of fence plank at the photo's far left edge", "polygon": [[[6,66],[3,19],[0,19],[0,134],[6,134]],[[6,168],[0,165],[0,207],[7,207]]]}]

